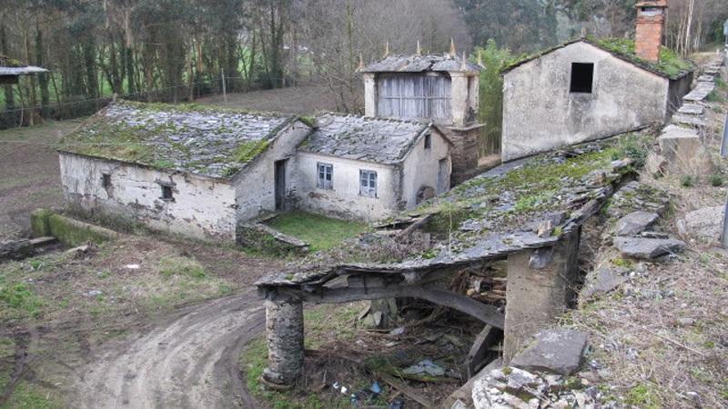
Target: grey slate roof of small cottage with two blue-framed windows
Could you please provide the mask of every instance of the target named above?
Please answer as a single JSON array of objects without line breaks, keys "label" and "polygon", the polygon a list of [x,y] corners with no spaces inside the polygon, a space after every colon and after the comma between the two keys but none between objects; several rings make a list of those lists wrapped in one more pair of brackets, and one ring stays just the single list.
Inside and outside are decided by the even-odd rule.
[{"label": "grey slate roof of small cottage with two blue-framed windows", "polygon": [[401,162],[432,125],[369,116],[322,114],[318,127],[298,149],[382,165]]}]

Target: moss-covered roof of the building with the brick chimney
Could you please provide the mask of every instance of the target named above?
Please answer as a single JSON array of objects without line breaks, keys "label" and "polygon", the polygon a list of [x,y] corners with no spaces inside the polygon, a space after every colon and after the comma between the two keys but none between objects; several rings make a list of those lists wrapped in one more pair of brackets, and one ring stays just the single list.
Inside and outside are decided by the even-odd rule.
[{"label": "moss-covered roof of the building with the brick chimney", "polygon": [[[536,53],[534,55],[528,55],[524,56],[523,58],[519,59],[518,61],[515,61],[511,63],[511,65],[506,66],[501,70],[501,74],[507,74],[511,72],[512,70],[520,67],[521,65],[525,65],[530,63],[533,60],[537,60],[541,58],[544,55],[549,55],[553,53],[554,51],[560,50],[561,48],[564,48],[569,45],[573,45],[576,43],[585,43],[594,47],[599,48],[602,51],[606,51],[607,53],[615,56],[616,58],[621,59],[622,61],[626,61],[627,63],[630,63],[632,65],[635,65],[637,67],[642,68],[645,71],[649,71],[652,74],[660,75],[664,78],[676,80],[680,79],[685,75],[688,75],[694,71],[694,65],[693,63],[689,61],[685,61],[681,59],[681,64],[684,64],[685,66],[689,66],[690,68],[682,69],[682,67],[675,66],[672,64],[673,62],[667,63],[664,61],[660,61],[659,63],[651,63],[649,61],[643,60],[642,58],[638,57],[634,54],[634,42],[632,40],[627,39],[602,39],[602,40],[594,40],[591,38],[575,38],[570,41],[567,41],[566,43],[563,43],[561,45],[556,45],[552,48],[543,50],[539,53]],[[607,46],[609,43],[614,43],[614,45]],[[622,44],[620,44],[622,43]],[[664,49],[664,47],[663,47]]]}]

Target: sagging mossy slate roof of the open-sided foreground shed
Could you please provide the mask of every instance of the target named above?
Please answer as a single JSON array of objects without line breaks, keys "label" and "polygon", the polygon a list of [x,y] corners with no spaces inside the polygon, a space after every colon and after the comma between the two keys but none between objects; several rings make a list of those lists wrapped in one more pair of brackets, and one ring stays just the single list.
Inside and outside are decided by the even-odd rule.
[{"label": "sagging mossy slate roof of the open-sided foreground shed", "polygon": [[[502,165],[384,223],[425,220],[429,249],[388,234],[359,237],[288,265],[260,286],[324,283],[341,272],[428,271],[550,246],[598,211],[624,175],[625,156],[644,135],[622,135]],[[381,243],[379,243],[381,242]]]}]

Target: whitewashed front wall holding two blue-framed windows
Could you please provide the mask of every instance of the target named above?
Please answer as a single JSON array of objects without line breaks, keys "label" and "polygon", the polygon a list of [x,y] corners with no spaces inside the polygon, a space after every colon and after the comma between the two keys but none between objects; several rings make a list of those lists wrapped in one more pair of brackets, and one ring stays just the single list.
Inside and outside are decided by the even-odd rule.
[{"label": "whitewashed front wall holding two blue-framed windows", "polygon": [[[334,166],[333,189],[317,187],[319,162]],[[377,197],[359,195],[359,170],[377,172]],[[346,219],[379,220],[399,208],[400,175],[393,166],[299,152],[298,207]]]}]

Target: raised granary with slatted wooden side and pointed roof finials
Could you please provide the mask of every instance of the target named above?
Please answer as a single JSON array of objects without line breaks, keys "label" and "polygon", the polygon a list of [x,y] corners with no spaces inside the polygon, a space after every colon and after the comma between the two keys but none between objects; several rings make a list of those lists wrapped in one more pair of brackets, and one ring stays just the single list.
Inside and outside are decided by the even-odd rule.
[{"label": "raised granary with slatted wooden side and pointed roof finials", "polygon": [[359,67],[368,116],[434,122],[452,147],[453,185],[478,174],[480,70],[454,45],[445,55],[387,55]]}]

